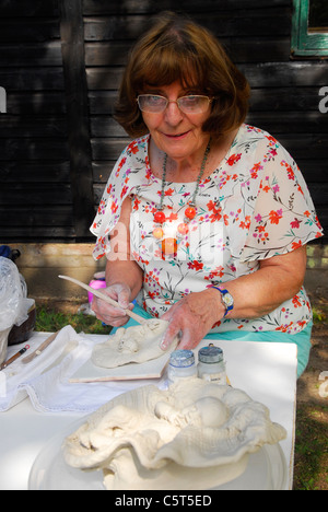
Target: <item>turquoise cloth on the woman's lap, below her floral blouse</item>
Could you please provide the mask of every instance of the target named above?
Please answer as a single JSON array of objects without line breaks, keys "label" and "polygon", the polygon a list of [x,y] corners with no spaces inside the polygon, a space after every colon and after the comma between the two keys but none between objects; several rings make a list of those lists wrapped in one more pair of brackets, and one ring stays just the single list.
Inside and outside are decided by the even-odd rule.
[{"label": "turquoise cloth on the woman's lap, below her floral blouse", "polygon": [[[143,316],[144,318],[152,318],[152,316],[147,313],[139,304],[134,305],[133,312],[137,315]],[[139,325],[133,318],[125,325],[125,327],[131,327],[133,325]],[[302,375],[304,370],[307,366],[309,351],[311,351],[311,334],[312,334],[313,323],[308,323],[307,326],[297,334],[291,335],[288,333],[280,333],[277,330],[266,330],[262,333],[253,333],[253,331],[241,331],[232,330],[227,333],[210,333],[204,339],[220,341],[231,339],[239,341],[262,341],[262,342],[279,342],[279,344],[296,344],[297,345],[297,379]],[[114,334],[116,328],[114,328],[110,334]]]}]

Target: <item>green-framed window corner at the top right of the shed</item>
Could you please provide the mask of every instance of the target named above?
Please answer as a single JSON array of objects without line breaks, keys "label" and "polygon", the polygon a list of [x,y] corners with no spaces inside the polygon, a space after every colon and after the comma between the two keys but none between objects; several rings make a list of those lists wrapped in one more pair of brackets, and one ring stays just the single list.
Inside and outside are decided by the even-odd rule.
[{"label": "green-framed window corner at the top right of the shed", "polygon": [[328,58],[327,0],[294,0],[292,54]]}]

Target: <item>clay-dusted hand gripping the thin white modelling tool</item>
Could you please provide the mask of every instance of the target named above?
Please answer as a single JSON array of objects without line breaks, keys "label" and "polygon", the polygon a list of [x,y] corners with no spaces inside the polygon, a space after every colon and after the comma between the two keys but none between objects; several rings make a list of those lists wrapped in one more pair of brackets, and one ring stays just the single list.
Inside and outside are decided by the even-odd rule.
[{"label": "clay-dusted hand gripping the thin white modelling tool", "polygon": [[120,307],[115,307],[93,295],[92,311],[95,313],[96,317],[106,325],[121,327],[130,319],[125,313],[125,310],[133,310],[133,304],[130,302],[130,288],[125,283],[116,283],[102,289],[102,292],[118,302]]}]

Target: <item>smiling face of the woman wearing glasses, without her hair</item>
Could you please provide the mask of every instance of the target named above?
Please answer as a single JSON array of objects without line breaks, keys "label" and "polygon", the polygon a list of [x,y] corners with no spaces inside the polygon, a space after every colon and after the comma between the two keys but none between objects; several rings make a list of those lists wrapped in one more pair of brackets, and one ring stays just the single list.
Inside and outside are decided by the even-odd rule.
[{"label": "smiling face of the woman wearing glasses, without her hair", "polygon": [[[143,93],[159,94],[169,102],[176,102],[181,96],[192,94],[185,90],[179,81],[159,89],[147,88]],[[168,103],[166,109],[160,114],[142,112],[153,142],[173,160],[190,159],[200,150],[204,150],[209,136],[201,130],[201,127],[209,115],[210,105],[204,113],[185,114],[176,103]]]}]

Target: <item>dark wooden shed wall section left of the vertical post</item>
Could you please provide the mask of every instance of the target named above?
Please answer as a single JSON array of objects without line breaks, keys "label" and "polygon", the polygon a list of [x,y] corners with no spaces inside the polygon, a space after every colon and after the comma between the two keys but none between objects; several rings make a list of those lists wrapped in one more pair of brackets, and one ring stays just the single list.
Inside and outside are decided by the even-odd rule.
[{"label": "dark wooden shed wall section left of the vertical post", "polygon": [[1,241],[74,236],[57,0],[0,7]]}]

